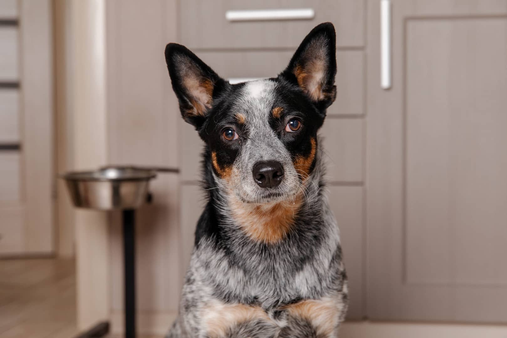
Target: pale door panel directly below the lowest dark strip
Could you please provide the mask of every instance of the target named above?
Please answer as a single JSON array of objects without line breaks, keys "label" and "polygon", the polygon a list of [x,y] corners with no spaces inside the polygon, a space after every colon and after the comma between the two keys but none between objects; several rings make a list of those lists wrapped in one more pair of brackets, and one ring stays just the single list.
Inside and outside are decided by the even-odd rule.
[{"label": "pale door panel directly below the lowest dark strip", "polygon": [[0,152],[0,203],[20,199],[20,155]]}]

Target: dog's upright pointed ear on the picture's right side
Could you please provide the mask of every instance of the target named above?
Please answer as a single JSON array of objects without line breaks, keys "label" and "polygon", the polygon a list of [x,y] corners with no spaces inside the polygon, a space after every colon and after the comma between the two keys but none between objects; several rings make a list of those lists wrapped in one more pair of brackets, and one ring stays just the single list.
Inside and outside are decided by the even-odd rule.
[{"label": "dog's upright pointed ear on the picture's right side", "polygon": [[313,102],[327,108],[336,98],[336,33],[331,22],[306,35],[287,68],[285,79],[299,85]]}]

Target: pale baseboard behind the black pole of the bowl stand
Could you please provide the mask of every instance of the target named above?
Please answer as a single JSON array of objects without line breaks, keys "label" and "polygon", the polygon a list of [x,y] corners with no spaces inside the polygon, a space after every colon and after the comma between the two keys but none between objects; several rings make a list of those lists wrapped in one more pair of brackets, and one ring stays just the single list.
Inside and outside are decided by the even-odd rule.
[{"label": "pale baseboard behind the black pole of the bowl stand", "polygon": [[[164,335],[169,330],[174,319],[176,319],[176,315],[176,311],[138,311],[137,333]],[[111,331],[113,334],[123,334],[124,313],[122,311],[111,312]]]}]

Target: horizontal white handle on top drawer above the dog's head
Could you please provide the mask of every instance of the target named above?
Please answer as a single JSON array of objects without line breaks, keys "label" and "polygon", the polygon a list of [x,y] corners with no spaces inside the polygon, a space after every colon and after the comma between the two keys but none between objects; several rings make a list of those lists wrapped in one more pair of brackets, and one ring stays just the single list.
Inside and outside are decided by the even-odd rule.
[{"label": "horizontal white handle on top drawer above the dog's head", "polygon": [[313,8],[225,12],[225,17],[228,21],[304,20],[313,19],[314,16],[315,11]]}]

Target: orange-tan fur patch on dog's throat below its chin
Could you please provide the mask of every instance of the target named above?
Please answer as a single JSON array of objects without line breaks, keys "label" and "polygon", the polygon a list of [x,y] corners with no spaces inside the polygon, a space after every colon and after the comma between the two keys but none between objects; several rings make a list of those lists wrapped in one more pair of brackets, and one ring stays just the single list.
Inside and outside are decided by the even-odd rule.
[{"label": "orange-tan fur patch on dog's throat below its chin", "polygon": [[232,194],[229,200],[233,217],[243,232],[252,240],[267,244],[279,242],[286,236],[303,204],[301,195],[271,205],[244,203]]}]

